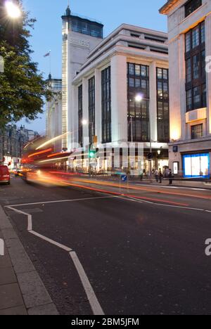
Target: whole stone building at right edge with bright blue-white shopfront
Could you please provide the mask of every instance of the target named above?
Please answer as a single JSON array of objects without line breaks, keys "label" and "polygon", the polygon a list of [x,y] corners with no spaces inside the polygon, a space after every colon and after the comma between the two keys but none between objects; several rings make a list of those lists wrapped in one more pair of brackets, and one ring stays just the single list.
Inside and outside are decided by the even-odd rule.
[{"label": "whole stone building at right edge with bright blue-white shopfront", "polygon": [[211,174],[211,1],[169,0],[170,167],[184,177]]}]

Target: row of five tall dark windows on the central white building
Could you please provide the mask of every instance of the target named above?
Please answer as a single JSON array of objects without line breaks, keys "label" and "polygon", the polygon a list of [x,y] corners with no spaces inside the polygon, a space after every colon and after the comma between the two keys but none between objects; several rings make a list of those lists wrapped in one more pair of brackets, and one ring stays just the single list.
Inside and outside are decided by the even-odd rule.
[{"label": "row of five tall dark windows on the central white building", "polygon": [[[169,141],[169,72],[164,68],[157,68],[157,115],[158,115],[158,141]],[[89,141],[93,143],[96,134],[95,117],[95,77],[89,79]],[[127,64],[127,92],[128,92],[128,141],[147,142],[150,139],[150,91],[149,67],[135,63]],[[136,96],[141,95],[140,100]],[[111,131],[111,78],[110,67],[101,72],[101,108],[102,108],[102,143],[112,141]],[[82,86],[78,89],[78,115],[79,115],[79,144],[83,139],[83,108]]]}]

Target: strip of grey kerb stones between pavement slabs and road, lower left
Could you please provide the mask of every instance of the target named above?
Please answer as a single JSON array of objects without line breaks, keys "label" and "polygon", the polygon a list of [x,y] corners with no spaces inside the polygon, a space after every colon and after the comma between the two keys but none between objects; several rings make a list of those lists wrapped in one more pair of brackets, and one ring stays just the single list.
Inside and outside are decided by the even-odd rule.
[{"label": "strip of grey kerb stones between pavement slabs and road, lower left", "polygon": [[30,257],[0,205],[0,230],[11,258],[28,315],[59,315]]}]

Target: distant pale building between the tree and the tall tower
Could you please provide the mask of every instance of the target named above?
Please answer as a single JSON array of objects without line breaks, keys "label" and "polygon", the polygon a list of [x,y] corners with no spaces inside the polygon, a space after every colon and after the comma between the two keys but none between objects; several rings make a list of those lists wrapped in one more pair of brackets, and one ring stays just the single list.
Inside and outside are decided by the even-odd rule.
[{"label": "distant pale building between the tree and the tall tower", "polygon": [[[53,93],[51,101],[46,102],[46,137],[52,139],[62,134],[62,79],[48,79],[49,89]],[[58,139],[54,148],[60,152],[62,141]]]}]

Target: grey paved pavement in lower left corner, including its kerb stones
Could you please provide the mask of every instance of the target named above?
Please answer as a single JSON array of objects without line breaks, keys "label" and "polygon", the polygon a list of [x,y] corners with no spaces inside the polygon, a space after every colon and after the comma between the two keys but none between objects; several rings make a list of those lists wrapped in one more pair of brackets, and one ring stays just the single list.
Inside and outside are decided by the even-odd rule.
[{"label": "grey paved pavement in lower left corner, including its kerb stones", "polygon": [[58,314],[49,293],[0,206],[0,315]]}]

